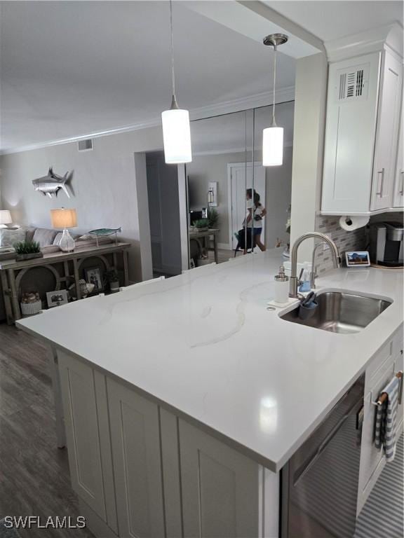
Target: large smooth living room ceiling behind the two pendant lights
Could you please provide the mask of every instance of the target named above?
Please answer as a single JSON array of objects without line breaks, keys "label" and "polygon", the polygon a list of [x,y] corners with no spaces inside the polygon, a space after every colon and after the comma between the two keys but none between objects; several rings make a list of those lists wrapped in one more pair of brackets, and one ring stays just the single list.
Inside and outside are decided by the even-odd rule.
[{"label": "large smooth living room ceiling behind the two pendant lights", "polygon": [[[170,106],[168,1],[1,4],[1,146],[87,135]],[[196,109],[271,89],[271,50],[174,2],[177,98]],[[282,55],[278,86],[294,84]]]}]

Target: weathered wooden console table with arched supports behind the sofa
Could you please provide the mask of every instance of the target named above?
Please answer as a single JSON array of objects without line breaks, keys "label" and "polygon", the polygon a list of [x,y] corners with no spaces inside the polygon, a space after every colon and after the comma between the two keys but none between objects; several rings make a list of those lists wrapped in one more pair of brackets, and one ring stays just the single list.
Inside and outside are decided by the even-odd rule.
[{"label": "weathered wooden console table with arched supports behind the sofa", "polygon": [[[128,248],[130,243],[108,243],[101,247],[88,247],[76,249],[73,252],[52,252],[44,254],[43,258],[16,261],[6,260],[0,262],[0,282],[6,308],[6,319],[9,325],[21,319],[20,310],[20,282],[30,270],[46,268],[53,273],[55,290],[67,284],[74,283],[76,298],[81,299],[80,273],[81,265],[88,258],[99,258],[105,270],[116,269],[123,274],[123,285],[128,286]],[[48,291],[53,291],[52,289]]]}]

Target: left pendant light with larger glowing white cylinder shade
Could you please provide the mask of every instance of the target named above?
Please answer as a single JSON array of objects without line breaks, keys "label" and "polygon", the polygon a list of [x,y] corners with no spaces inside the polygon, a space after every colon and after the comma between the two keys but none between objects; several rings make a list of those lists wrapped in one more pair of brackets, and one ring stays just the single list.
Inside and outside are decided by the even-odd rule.
[{"label": "left pendant light with larger glowing white cylinder shade", "polygon": [[170,31],[171,31],[171,81],[173,99],[169,110],[161,113],[163,123],[164,157],[167,164],[190,163],[191,129],[189,127],[189,112],[178,108],[175,97],[174,71],[174,38],[173,38],[173,4],[170,0]]}]

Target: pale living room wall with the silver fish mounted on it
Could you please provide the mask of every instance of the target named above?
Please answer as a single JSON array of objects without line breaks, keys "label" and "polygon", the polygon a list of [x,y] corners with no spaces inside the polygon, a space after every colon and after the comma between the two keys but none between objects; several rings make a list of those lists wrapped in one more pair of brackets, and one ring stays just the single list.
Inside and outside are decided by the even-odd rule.
[{"label": "pale living room wall with the silver fish mounted on it", "polygon": [[[152,127],[97,138],[94,150],[88,152],[79,153],[74,142],[1,156],[0,207],[10,209],[13,221],[21,225],[50,228],[50,209],[74,207],[78,220],[73,230],[76,233],[122,226],[121,239],[132,243],[130,280],[142,280],[140,228],[144,218],[138,212],[137,200],[142,200],[140,212],[147,211],[147,189],[142,185],[146,181],[142,166],[137,163],[135,167],[135,152],[162,147],[161,127]],[[50,165],[57,174],[74,171],[72,198],[60,192],[58,198],[50,200],[34,191],[32,179],[46,175]]]}]

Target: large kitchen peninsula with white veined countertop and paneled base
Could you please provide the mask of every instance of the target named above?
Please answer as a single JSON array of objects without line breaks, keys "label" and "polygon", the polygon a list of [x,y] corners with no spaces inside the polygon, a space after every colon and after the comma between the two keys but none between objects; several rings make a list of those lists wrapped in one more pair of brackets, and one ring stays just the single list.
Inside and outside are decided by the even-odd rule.
[{"label": "large kitchen peninsula with white veined countertop and paneled base", "polygon": [[[278,534],[279,471],[380,350],[402,349],[403,275],[321,289],[392,301],[355,334],[267,310],[277,250],[18,322],[55,349],[70,470],[96,535]],[[397,349],[396,349],[397,348]]]}]

